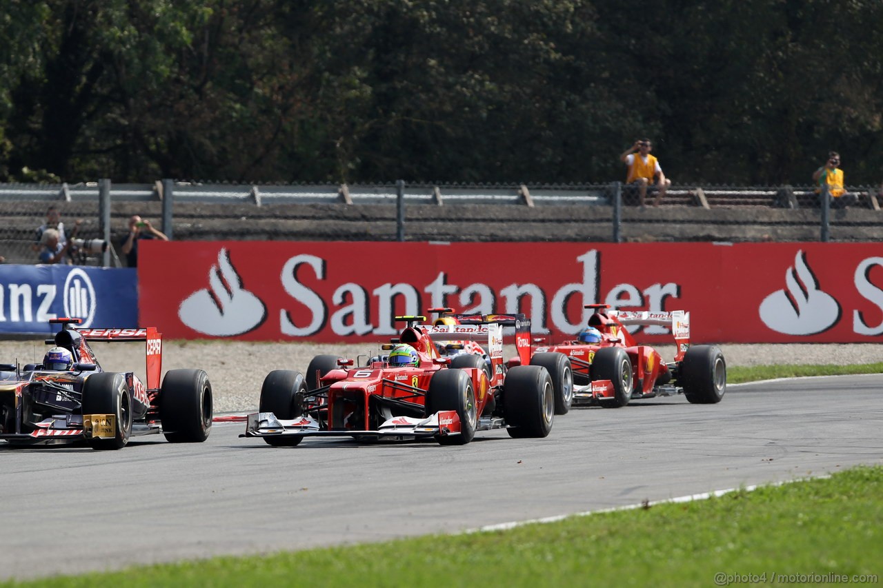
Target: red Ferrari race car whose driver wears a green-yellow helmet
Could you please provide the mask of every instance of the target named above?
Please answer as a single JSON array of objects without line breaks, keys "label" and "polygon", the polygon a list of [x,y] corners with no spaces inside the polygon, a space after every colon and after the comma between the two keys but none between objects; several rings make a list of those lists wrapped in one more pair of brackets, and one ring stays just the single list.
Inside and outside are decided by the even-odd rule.
[{"label": "red Ferrari race car whose driver wears a green-yellow helmet", "polygon": [[[476,431],[505,428],[511,437],[545,437],[552,428],[554,388],[546,369],[526,365],[530,320],[485,317],[471,324],[419,324],[426,317],[396,317],[407,326],[382,346],[385,355],[355,366],[333,355],[313,358],[302,373],[276,370],[260,389],[260,412],[248,415],[242,437],[270,445],[298,445],[306,436],[356,439],[434,438],[463,445]],[[502,327],[520,330],[524,366],[504,369]],[[477,355],[441,356],[436,341],[479,341],[491,362]],[[363,356],[366,357],[366,356]]]}]

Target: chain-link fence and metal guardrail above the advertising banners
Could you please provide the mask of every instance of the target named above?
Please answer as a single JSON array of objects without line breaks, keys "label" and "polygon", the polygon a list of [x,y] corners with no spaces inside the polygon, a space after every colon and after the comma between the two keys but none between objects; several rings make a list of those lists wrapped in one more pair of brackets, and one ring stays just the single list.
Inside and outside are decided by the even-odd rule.
[{"label": "chain-link fence and metal guardrail above the advertising banners", "polygon": [[[159,180],[111,185],[0,185],[0,256],[33,263],[35,230],[55,205],[70,232],[108,241],[72,261],[121,265],[129,215],[151,215],[170,238],[270,240],[883,240],[880,192],[829,199],[812,186],[689,186],[640,207],[634,186],[224,185]],[[841,206],[848,204],[848,206]],[[323,229],[324,227],[324,229]]]}]

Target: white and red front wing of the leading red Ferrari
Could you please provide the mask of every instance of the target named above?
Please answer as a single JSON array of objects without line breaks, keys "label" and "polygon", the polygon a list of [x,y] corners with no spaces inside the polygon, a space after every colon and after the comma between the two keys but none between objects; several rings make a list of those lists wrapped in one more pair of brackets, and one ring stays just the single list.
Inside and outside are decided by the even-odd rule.
[{"label": "white and red front wing of the leading red Ferrari", "polygon": [[272,412],[253,412],[245,418],[245,433],[240,437],[438,437],[460,434],[457,411],[439,411],[427,418],[395,417],[376,431],[356,429],[328,430],[312,417],[290,420],[276,418]]}]

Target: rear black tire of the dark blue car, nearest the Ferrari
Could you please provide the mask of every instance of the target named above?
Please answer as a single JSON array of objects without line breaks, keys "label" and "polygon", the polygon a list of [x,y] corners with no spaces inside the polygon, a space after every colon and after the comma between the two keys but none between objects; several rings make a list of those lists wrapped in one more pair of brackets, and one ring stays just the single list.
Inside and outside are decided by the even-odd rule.
[{"label": "rear black tire of the dark blue car, nearest the Ferrari", "polygon": [[171,443],[201,443],[212,431],[212,385],[203,370],[169,370],[160,387],[162,434]]}]

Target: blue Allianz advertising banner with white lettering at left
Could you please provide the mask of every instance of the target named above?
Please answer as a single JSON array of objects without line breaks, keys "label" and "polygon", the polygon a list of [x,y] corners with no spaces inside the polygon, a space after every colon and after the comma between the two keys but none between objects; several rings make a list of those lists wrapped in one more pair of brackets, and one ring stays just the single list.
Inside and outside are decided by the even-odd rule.
[{"label": "blue Allianz advertising banner with white lettering at left", "polygon": [[80,327],[138,327],[135,268],[0,265],[0,334],[54,333],[49,319]]}]

